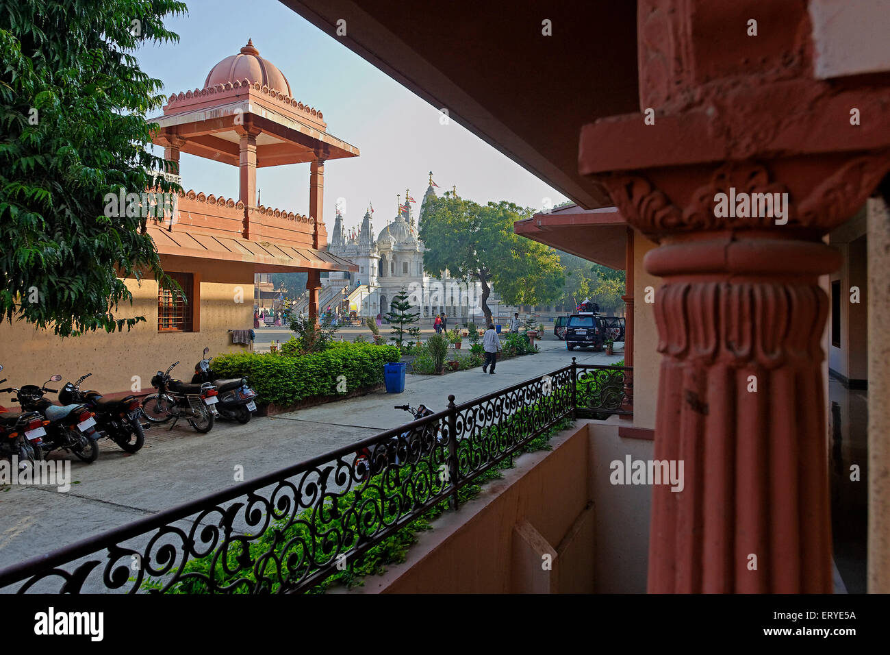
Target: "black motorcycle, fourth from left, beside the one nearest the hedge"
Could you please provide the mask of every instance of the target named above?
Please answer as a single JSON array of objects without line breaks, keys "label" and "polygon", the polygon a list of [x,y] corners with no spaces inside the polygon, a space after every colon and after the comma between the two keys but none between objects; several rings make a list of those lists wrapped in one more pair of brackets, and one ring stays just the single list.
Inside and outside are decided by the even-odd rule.
[{"label": "black motorcycle, fourth from left, beside the one nearest the hedge", "polygon": [[170,372],[176,364],[179,362],[170,364],[166,372],[158,371],[151,378],[151,386],[158,389],[158,393],[142,400],[142,413],[153,423],[166,423],[174,419],[170,430],[184,417],[192,428],[206,434],[213,430],[214,418],[219,413],[216,410],[219,403],[216,389],[210,382],[188,384],[174,380]]}]

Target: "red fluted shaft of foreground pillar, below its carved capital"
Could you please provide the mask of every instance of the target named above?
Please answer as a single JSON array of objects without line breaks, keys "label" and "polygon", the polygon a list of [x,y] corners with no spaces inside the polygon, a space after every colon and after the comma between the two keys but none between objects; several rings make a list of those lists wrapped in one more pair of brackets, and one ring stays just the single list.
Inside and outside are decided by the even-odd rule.
[{"label": "red fluted shaft of foreground pillar, below its carved capital", "polygon": [[717,233],[646,264],[664,278],[656,460],[684,487],[652,490],[649,588],[830,593],[830,520],[818,275],[820,242]]}]

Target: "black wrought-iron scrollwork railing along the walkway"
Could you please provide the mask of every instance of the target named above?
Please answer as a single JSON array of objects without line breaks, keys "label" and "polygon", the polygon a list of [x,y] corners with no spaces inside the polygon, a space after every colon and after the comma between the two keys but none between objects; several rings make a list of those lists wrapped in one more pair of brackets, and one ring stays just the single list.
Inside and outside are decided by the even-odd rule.
[{"label": "black wrought-iron scrollwork railing along the walkway", "polygon": [[[304,592],[559,422],[629,413],[631,369],[572,364],[0,570],[18,593]],[[13,586],[14,585],[14,586]]]}]

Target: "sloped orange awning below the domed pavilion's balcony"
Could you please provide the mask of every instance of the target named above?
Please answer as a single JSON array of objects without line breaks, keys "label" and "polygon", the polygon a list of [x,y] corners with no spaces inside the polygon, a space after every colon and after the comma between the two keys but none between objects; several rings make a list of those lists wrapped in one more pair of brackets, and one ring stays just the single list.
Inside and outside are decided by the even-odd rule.
[{"label": "sloped orange awning below the domed pavilion's balcony", "polygon": [[155,226],[150,226],[148,233],[161,255],[248,262],[254,265],[255,273],[287,273],[313,269],[357,273],[359,270],[348,259],[329,252],[284,243],[248,241],[240,237],[194,230],[186,232],[174,229],[169,232],[166,228]]}]

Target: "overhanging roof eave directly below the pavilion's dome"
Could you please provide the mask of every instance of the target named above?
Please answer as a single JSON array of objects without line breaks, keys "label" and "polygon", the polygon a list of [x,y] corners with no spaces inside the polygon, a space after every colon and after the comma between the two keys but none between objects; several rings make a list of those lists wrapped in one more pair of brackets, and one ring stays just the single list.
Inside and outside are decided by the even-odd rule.
[{"label": "overhanging roof eave directly below the pavilion's dome", "polygon": [[[158,125],[158,136],[156,136],[156,138],[163,138],[162,132],[164,130],[171,130],[177,134],[185,135],[186,138],[188,138],[190,131],[182,130],[183,126],[210,124],[214,122],[218,123],[220,119],[234,117],[237,114],[240,114],[243,119],[247,119],[247,117],[250,116],[267,120],[275,126],[283,127],[286,134],[287,131],[292,131],[298,135],[303,135],[304,137],[319,141],[324,144],[326,157],[329,160],[358,157],[360,155],[359,149],[352,145],[352,143],[346,143],[343,139],[339,139],[328,132],[320,130],[318,127],[312,127],[299,120],[290,119],[277,111],[272,111],[258,102],[251,102],[247,99],[228,102],[215,107],[157,116],[149,119],[148,122]],[[207,133],[212,131],[214,130],[207,130]],[[204,132],[200,129],[195,131],[196,135],[203,133]],[[299,140],[296,138],[291,141],[293,143],[299,143]]]}]

